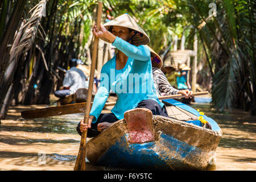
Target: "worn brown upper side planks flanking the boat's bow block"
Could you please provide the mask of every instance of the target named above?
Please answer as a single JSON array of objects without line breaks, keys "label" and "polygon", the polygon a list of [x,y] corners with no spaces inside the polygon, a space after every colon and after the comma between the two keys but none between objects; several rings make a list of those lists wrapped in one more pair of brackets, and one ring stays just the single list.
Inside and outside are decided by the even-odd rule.
[{"label": "worn brown upper side planks flanking the boat's bow block", "polygon": [[[206,152],[215,151],[220,142],[222,133],[204,129],[184,121],[153,115],[155,140],[158,140],[159,131],[171,135],[183,142],[199,147]],[[96,163],[119,138],[129,133],[127,123],[121,119],[108,129],[102,131],[86,144],[86,156],[91,163]]]}]

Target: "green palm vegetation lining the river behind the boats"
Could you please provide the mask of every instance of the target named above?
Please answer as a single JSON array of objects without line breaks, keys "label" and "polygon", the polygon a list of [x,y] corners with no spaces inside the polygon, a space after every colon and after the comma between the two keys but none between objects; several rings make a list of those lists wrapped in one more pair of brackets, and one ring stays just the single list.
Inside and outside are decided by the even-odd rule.
[{"label": "green palm vegetation lining the river behind the boats", "polygon": [[[197,83],[209,88],[212,106],[256,114],[255,1],[223,0],[211,6],[208,0],[103,3],[102,23],[130,14],[164,61],[175,36],[184,35],[185,49],[192,49],[196,34]],[[69,59],[90,65],[96,5],[95,0],[0,2],[0,118],[11,104],[49,104],[49,94],[64,76],[56,69],[67,69]]]}]

